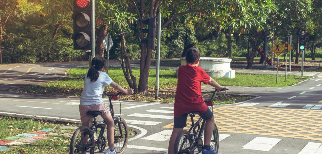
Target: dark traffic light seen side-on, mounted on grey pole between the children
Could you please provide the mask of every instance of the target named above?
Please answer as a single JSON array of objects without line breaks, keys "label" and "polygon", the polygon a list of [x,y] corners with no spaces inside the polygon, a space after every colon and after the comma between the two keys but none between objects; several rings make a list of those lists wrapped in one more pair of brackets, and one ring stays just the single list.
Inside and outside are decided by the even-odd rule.
[{"label": "dark traffic light seen side-on, mounted on grey pole between the children", "polygon": [[154,50],[156,48],[156,18],[151,17],[148,19],[142,19],[142,23],[147,24],[149,28],[141,30],[142,32],[147,33],[147,40],[141,40],[141,42],[147,44],[147,49]]}]

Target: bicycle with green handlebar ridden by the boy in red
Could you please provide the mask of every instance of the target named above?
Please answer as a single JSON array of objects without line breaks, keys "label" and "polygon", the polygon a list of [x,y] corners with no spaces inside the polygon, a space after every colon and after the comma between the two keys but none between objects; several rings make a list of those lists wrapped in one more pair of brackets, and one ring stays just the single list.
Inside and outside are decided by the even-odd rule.
[{"label": "bicycle with green handlebar ridden by the boy in red", "polygon": [[[227,88],[223,88],[220,91],[226,91]],[[215,88],[215,91],[212,92],[202,92],[202,93],[212,93],[211,98],[208,100],[205,100],[205,103],[207,106],[212,106],[213,108],[213,98],[216,97],[217,89]],[[200,112],[190,112],[188,113],[191,118],[191,127],[189,131],[183,130],[181,131],[177,138],[175,139],[175,145],[174,145],[174,153],[175,154],[194,154],[194,150],[198,149],[198,153],[200,153],[203,149],[203,139],[202,135],[204,132],[204,124],[205,121],[200,117],[197,122],[194,122],[194,117],[196,115],[200,115]],[[200,122],[201,126],[200,126]],[[210,141],[210,146],[213,148],[216,153],[218,153],[219,149],[219,136],[218,136],[218,128],[215,123],[215,127],[213,129],[213,136]]]}]

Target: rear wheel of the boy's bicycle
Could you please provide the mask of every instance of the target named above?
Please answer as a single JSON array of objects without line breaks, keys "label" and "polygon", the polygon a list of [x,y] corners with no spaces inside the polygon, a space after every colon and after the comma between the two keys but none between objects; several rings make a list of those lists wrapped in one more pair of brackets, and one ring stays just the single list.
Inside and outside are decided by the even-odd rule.
[{"label": "rear wheel of the boy's bicycle", "polygon": [[[181,131],[175,139],[174,154],[189,154],[192,139],[189,131]],[[193,152],[192,152],[193,153]]]}]

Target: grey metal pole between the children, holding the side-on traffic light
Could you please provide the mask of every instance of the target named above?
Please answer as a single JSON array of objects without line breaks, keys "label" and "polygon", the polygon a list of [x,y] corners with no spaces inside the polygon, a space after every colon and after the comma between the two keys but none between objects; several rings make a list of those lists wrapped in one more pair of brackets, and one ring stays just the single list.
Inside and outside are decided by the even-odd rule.
[{"label": "grey metal pole between the children, holding the side-on traffic light", "polygon": [[159,70],[160,70],[160,39],[161,39],[161,14],[158,14],[158,34],[156,49],[156,100],[159,99]]}]

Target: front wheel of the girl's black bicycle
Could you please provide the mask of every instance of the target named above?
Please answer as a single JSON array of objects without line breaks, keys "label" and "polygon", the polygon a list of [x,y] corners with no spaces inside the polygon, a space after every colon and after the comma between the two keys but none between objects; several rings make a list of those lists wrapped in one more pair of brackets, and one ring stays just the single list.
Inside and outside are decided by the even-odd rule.
[{"label": "front wheel of the girl's black bicycle", "polygon": [[[118,122],[115,121],[114,123],[114,148],[118,154],[122,154],[128,145],[128,125],[123,119],[121,119],[120,123],[120,127]],[[122,129],[122,136],[119,128]]]}]

